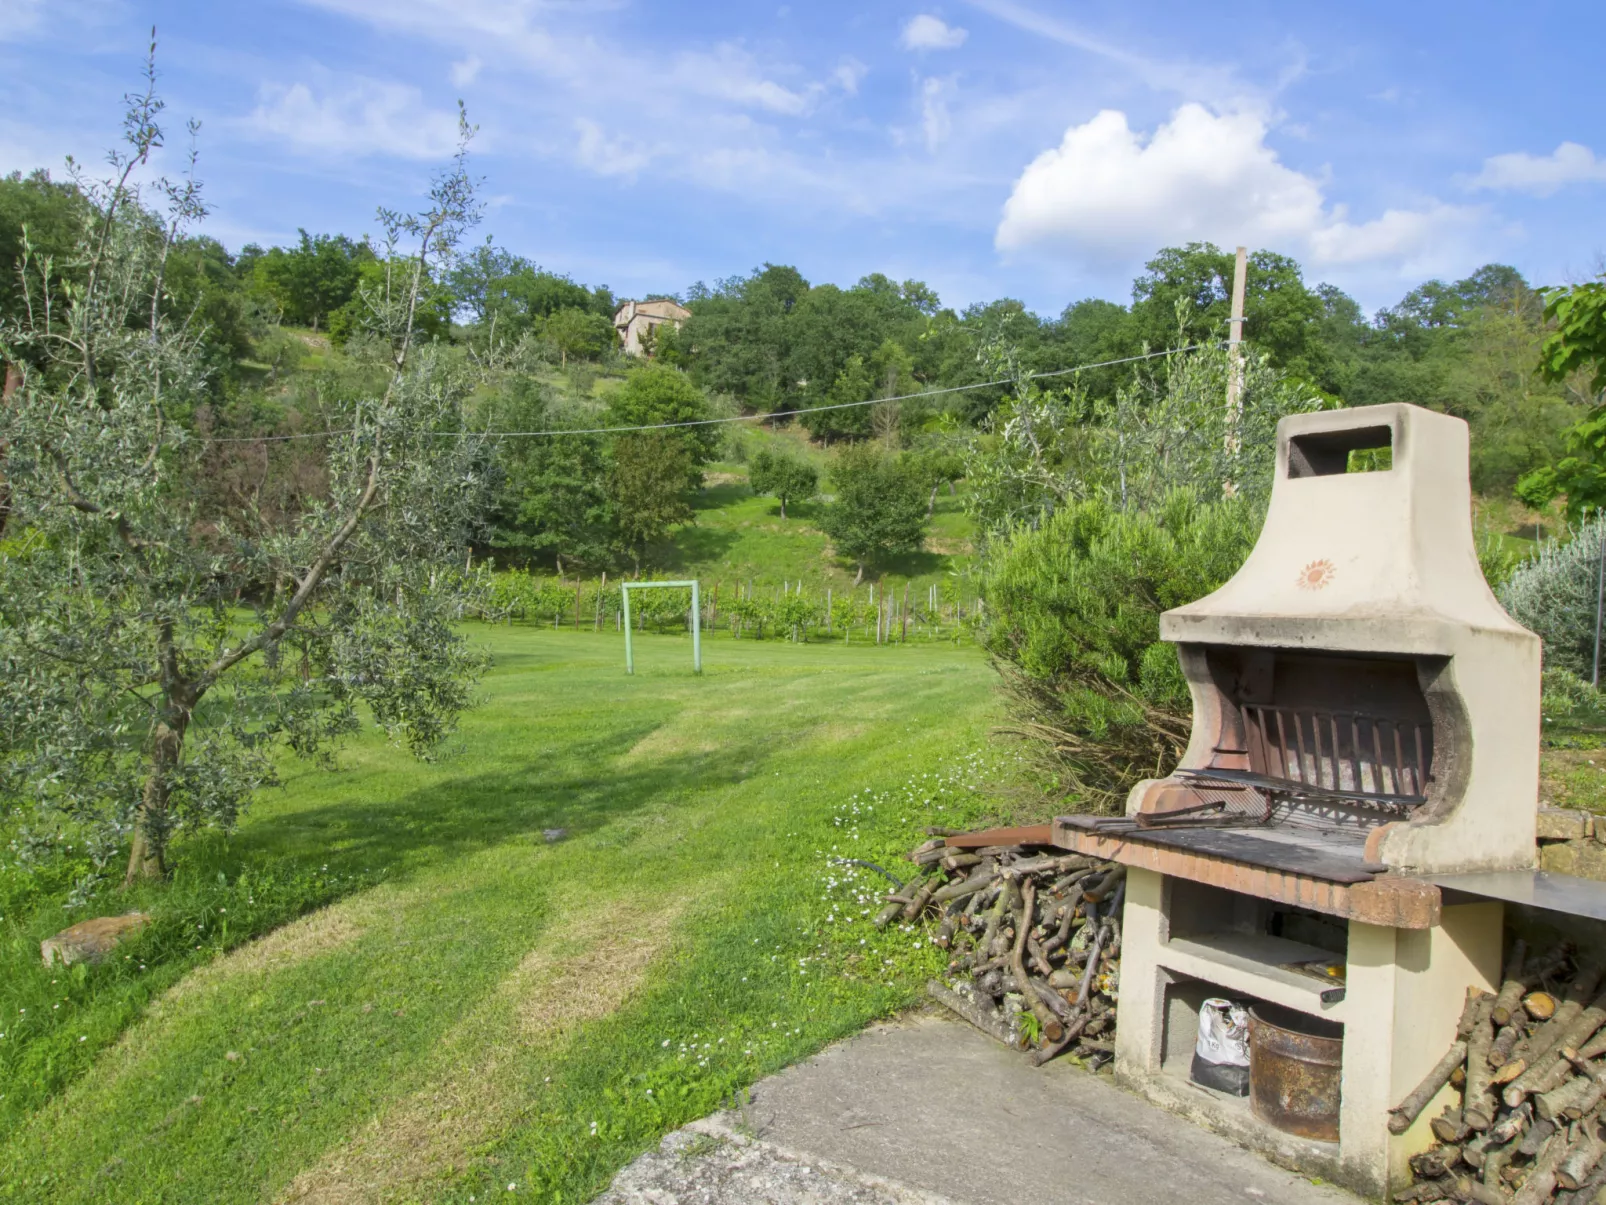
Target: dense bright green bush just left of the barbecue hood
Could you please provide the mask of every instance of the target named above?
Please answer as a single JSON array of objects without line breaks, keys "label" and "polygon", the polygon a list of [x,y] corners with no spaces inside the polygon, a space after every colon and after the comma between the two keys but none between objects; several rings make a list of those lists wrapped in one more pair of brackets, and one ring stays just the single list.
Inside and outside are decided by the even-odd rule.
[{"label": "dense bright green bush just left of the barbecue hood", "polygon": [[1012,696],[1013,731],[1049,752],[1062,789],[1115,810],[1180,757],[1188,692],[1160,614],[1232,577],[1261,517],[1245,498],[1174,492],[1153,511],[1094,498],[994,543],[981,641]]}]

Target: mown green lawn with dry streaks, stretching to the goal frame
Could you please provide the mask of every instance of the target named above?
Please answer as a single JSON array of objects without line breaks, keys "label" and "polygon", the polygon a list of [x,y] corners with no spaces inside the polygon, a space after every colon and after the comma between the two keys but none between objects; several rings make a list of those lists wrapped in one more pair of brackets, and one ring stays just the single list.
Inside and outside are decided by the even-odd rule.
[{"label": "mown green lawn with dry streaks, stretching to the goal frame", "polygon": [[204,847],[230,890],[263,860],[376,885],[173,974],[120,1038],[127,993],[63,995],[84,1065],[11,1118],[0,1197],[583,1202],[914,999],[936,951],[872,930],[880,880],[830,858],[993,810],[975,649],[719,639],[692,678],[644,636],[626,678],[612,633],[480,631],[448,757],[365,739]]}]

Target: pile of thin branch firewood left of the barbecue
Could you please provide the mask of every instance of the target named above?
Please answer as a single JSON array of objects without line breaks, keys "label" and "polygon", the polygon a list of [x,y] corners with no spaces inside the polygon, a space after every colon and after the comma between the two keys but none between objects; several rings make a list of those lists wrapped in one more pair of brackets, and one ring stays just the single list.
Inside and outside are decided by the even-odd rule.
[{"label": "pile of thin branch firewood left of the barbecue", "polygon": [[1026,845],[949,848],[943,831],[907,856],[919,868],[875,924],[936,924],[952,986],[927,991],[1033,1064],[1113,1057],[1126,868]]}]

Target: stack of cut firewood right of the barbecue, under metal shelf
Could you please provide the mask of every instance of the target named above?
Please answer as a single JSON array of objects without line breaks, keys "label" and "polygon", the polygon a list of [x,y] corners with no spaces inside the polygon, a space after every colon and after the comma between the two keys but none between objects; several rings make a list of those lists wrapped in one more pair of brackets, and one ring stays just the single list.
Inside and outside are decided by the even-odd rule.
[{"label": "stack of cut firewood right of the barbecue, under metal shelf", "polygon": [[1450,1084],[1397,1202],[1606,1205],[1606,991],[1569,946],[1526,962],[1513,948],[1498,995],[1468,991],[1455,1043],[1396,1105],[1396,1134]]}]

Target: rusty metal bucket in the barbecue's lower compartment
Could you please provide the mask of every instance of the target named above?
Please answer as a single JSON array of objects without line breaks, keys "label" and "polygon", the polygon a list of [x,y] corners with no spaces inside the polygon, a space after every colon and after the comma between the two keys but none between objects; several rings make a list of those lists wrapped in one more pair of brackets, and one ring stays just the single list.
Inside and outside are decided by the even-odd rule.
[{"label": "rusty metal bucket in the barbecue's lower compartment", "polygon": [[1285,1134],[1338,1141],[1344,1027],[1277,1004],[1249,1009],[1249,1109]]}]

